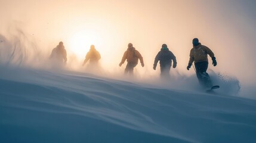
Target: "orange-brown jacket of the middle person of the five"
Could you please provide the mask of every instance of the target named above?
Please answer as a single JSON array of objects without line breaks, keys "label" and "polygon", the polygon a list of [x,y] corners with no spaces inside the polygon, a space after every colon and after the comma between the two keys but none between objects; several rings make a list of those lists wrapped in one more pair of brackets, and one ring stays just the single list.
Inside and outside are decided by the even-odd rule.
[{"label": "orange-brown jacket of the middle person of the five", "polygon": [[143,57],[141,56],[140,52],[138,52],[134,47],[128,48],[122,57],[121,64],[124,64],[125,60],[127,60],[127,62],[138,64],[138,59],[140,59],[141,64],[144,64]]}]

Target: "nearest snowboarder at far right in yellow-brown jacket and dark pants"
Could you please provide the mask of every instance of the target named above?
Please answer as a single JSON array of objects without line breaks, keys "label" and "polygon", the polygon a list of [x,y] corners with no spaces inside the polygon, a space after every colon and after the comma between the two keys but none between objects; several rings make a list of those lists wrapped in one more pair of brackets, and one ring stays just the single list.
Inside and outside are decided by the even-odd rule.
[{"label": "nearest snowboarder at far right in yellow-brown jacket and dark pants", "polygon": [[199,83],[201,83],[203,86],[211,87],[212,82],[209,74],[206,73],[206,70],[208,69],[208,55],[212,58],[213,66],[217,66],[214,53],[207,46],[202,45],[198,38],[194,38],[192,43],[193,48],[190,50],[190,58],[187,70],[189,70],[193,62],[195,62],[196,76],[198,77]]}]

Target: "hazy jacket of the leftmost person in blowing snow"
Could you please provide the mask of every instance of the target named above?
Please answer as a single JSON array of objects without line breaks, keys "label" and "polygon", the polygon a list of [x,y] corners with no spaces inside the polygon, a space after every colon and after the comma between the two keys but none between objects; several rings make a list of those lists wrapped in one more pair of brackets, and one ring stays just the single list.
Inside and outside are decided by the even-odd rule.
[{"label": "hazy jacket of the leftmost person in blowing snow", "polygon": [[50,58],[58,61],[67,61],[67,52],[64,46],[57,45],[56,48],[51,52]]}]

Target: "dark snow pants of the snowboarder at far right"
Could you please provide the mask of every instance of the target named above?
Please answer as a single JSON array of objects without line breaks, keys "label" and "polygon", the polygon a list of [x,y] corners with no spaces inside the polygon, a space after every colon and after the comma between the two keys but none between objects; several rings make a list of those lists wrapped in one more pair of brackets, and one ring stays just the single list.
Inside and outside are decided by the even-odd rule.
[{"label": "dark snow pants of the snowboarder at far right", "polygon": [[195,63],[195,67],[196,67],[196,76],[198,77],[199,83],[202,86],[211,88],[212,87],[211,78],[209,77],[209,74],[206,73],[206,70],[208,69],[208,62],[201,61],[201,62]]}]

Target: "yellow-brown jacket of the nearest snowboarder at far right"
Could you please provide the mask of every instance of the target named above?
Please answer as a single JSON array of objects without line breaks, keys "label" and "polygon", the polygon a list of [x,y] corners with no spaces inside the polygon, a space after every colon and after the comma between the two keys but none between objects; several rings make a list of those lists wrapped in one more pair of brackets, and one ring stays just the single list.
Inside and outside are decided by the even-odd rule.
[{"label": "yellow-brown jacket of the nearest snowboarder at far right", "polygon": [[190,50],[190,58],[189,58],[189,64],[192,64],[194,61],[195,63],[201,62],[201,61],[207,61],[208,62],[208,57],[214,57],[214,53],[209,49],[207,46],[199,45],[193,46],[193,48]]}]

